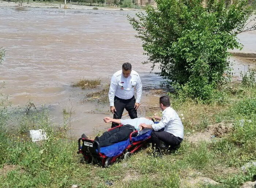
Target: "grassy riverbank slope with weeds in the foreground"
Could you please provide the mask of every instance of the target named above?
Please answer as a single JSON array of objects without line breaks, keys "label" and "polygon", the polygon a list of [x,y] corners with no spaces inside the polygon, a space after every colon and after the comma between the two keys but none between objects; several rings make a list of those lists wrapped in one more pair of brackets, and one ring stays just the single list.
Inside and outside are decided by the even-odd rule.
[{"label": "grassy riverbank slope with weeds in the foreground", "polygon": [[[64,130],[56,131],[46,111],[25,115],[18,128],[0,130],[0,166],[15,165],[10,170],[0,169],[0,187],[109,187],[106,181],[113,183],[111,187],[200,187],[189,184],[197,177],[220,183],[208,187],[240,187],[256,174],[256,169],[249,173],[240,170],[246,162],[256,159],[256,91],[239,84],[225,86],[221,91],[216,103],[173,99],[172,106],[183,114],[185,138],[188,132],[196,133],[219,122],[234,124],[230,134],[211,142],[191,143],[184,139],[178,151],[163,158],[151,157],[149,149],[141,150],[110,168],[80,163],[76,140],[65,138]],[[148,114],[156,112],[161,113],[156,110]],[[45,128],[48,141],[31,143],[26,131],[32,127]]]}]

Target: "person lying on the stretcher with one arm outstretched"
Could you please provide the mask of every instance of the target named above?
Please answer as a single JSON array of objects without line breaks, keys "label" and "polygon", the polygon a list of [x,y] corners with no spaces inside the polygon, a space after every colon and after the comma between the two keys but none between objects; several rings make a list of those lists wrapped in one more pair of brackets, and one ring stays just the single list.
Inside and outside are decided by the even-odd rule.
[{"label": "person lying on the stretcher with one arm outstretched", "polygon": [[[100,137],[95,137],[94,140],[99,142],[100,147],[104,146],[110,146],[114,143],[124,141],[129,138],[130,134],[138,130],[138,133],[133,136],[141,135],[146,133],[147,131],[150,131],[148,128],[144,128],[142,130],[142,127],[139,126],[141,123],[145,124],[154,124],[153,118],[135,118],[135,119],[113,119],[110,117],[105,117],[104,119],[105,123],[118,123],[123,124],[121,127],[113,128],[110,131],[104,132]],[[82,138],[87,138],[85,134],[82,134]]]}]

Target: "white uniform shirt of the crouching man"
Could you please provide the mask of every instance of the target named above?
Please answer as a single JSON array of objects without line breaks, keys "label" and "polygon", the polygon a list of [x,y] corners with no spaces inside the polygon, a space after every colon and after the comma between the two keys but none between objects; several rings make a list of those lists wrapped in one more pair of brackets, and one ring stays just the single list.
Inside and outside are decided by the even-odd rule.
[{"label": "white uniform shirt of the crouching man", "polygon": [[182,122],[176,113],[175,110],[171,107],[165,108],[165,110],[162,112],[163,116],[161,121],[158,124],[153,124],[152,128],[155,131],[160,130],[161,128],[165,128],[165,131],[168,133],[173,134],[176,137],[180,137],[183,139],[184,136],[184,128],[182,125]]}]

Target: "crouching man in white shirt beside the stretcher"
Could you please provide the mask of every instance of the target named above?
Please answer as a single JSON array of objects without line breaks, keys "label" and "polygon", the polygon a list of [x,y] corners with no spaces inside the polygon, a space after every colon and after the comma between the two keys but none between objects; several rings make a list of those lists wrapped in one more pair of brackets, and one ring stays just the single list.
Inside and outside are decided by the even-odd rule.
[{"label": "crouching man in white shirt beside the stretcher", "polygon": [[157,151],[166,149],[176,149],[183,140],[183,125],[173,108],[170,107],[170,99],[167,96],[162,96],[159,99],[159,106],[162,112],[162,118],[154,116],[155,119],[160,120],[157,124],[142,123],[143,128],[153,129],[151,133],[152,147]]}]

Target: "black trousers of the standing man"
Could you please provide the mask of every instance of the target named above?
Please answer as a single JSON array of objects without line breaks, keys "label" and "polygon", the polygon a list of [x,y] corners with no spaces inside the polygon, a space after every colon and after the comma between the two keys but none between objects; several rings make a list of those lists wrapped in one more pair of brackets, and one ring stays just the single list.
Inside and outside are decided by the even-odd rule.
[{"label": "black trousers of the standing man", "polygon": [[[128,114],[131,119],[137,118],[137,110],[135,110],[135,97],[133,96],[131,99],[120,99],[117,96],[114,97],[114,107],[116,108],[116,112],[114,113],[114,119],[121,119],[124,108],[128,111]],[[118,126],[117,123],[112,122],[112,128]]]}]

